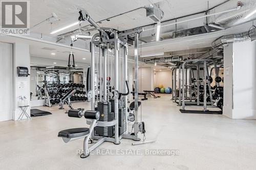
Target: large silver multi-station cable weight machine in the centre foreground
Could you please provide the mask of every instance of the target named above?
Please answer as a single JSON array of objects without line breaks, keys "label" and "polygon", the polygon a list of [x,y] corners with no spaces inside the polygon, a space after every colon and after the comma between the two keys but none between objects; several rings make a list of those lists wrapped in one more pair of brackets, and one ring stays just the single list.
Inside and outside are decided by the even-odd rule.
[{"label": "large silver multi-station cable weight machine in the centre foreground", "polygon": [[[122,32],[114,29],[102,29],[86,11],[79,10],[79,15],[79,22],[89,21],[99,32],[91,37],[90,42],[91,76],[88,77],[91,79],[89,86],[91,89],[88,89],[88,96],[91,101],[91,110],[83,113],[81,110],[71,109],[68,115],[78,118],[84,116],[87,118],[90,129],[68,129],[60,131],[58,136],[62,137],[65,142],[84,137],[83,153],[80,157],[86,158],[104,141],[120,144],[122,138],[141,140],[138,136],[139,132],[145,136],[145,124],[138,122],[138,38],[143,29]],[[130,36],[134,36],[135,42],[135,122],[132,131],[128,132],[127,95],[130,90],[127,83],[127,55],[128,42],[132,39]],[[78,34],[73,36],[72,40],[75,41],[79,38],[84,39],[83,35]],[[109,58],[111,58],[111,64]],[[114,61],[112,62],[113,58]],[[109,74],[110,66],[111,74]],[[113,95],[110,95],[110,84]],[[71,133],[72,136],[70,137],[69,134]],[[156,140],[145,141],[145,137],[143,137],[142,142],[133,143],[133,145],[154,141]],[[91,143],[90,148],[89,143]]]}]

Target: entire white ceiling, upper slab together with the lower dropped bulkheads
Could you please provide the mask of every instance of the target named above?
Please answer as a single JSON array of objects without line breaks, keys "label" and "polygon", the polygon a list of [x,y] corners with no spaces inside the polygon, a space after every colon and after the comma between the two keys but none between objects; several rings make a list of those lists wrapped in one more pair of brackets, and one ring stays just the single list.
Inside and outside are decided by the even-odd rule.
[{"label": "entire white ceiling, upper slab together with the lower dropped bulkheads", "polygon": [[[135,3],[136,2],[136,3]],[[51,12],[55,12],[60,21],[56,21],[52,25],[52,29],[59,29],[63,26],[67,26],[70,23],[74,23],[78,19],[77,8],[86,9],[91,17],[95,21],[111,17],[123,13],[125,11],[133,10],[138,7],[149,5],[152,3],[159,2],[159,0],[118,0],[118,1],[102,1],[102,0],[61,0],[61,1],[50,1],[50,0],[33,0],[30,1],[30,20],[31,26],[51,16]],[[164,0],[160,2],[160,7],[164,11],[164,18],[167,20],[175,17],[180,17],[188,14],[201,12],[207,9],[207,0]],[[209,8],[214,7],[225,0],[209,1]],[[151,19],[148,19],[145,14],[145,9],[140,9],[122,16],[115,17],[111,21],[103,21],[101,26],[103,27],[114,27],[120,30],[135,28],[143,25],[153,23]],[[84,22],[83,25],[88,25],[88,22]],[[142,46],[142,54],[152,54],[158,52],[169,52],[169,51],[180,51],[188,50],[193,48],[207,47],[211,45],[211,42],[222,35],[238,33],[247,31],[251,26],[251,23],[247,23],[242,26],[234,27],[224,31],[219,31],[210,34],[201,34],[196,36],[189,36],[183,38],[169,39],[154,43],[147,43]],[[65,30],[68,32],[77,29],[76,27]],[[33,30],[37,33],[44,33],[50,35],[50,24],[42,24],[39,28]],[[60,32],[60,33],[64,33]],[[58,34],[60,34],[58,33]],[[142,33],[143,34],[143,33]],[[54,36],[56,36],[55,34]],[[53,36],[53,35],[52,35]],[[5,42],[23,42],[30,44],[31,56],[50,58],[56,60],[68,60],[70,47],[67,45],[61,45],[57,43],[41,41],[39,39],[23,39],[23,37],[13,36],[0,36],[0,41]],[[54,50],[43,50],[43,47],[51,47]],[[129,53],[133,56],[133,47]],[[63,53],[64,52],[64,53]],[[90,52],[81,48],[74,48],[75,60],[81,63],[90,63]],[[55,53],[52,56],[51,53]],[[86,58],[86,60],[82,60]]]}]

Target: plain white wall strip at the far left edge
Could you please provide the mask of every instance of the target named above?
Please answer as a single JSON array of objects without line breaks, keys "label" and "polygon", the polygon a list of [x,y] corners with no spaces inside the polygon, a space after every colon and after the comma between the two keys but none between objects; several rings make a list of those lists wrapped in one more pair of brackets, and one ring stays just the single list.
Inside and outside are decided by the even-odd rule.
[{"label": "plain white wall strip at the far left edge", "polygon": [[0,122],[12,119],[13,108],[13,45],[0,42]]}]

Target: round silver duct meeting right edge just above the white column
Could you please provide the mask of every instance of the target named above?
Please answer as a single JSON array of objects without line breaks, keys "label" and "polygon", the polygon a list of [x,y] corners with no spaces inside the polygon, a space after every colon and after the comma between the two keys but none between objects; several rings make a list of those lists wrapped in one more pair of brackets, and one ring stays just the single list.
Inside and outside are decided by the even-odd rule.
[{"label": "round silver duct meeting right edge just above the white column", "polygon": [[214,42],[211,43],[212,48],[222,48],[223,46],[228,45],[229,43],[235,43],[235,42],[243,42],[246,40],[251,39],[252,36],[256,35],[256,28],[253,28],[250,31],[246,31],[243,33],[238,33],[238,34],[232,34],[232,35],[225,35]]}]

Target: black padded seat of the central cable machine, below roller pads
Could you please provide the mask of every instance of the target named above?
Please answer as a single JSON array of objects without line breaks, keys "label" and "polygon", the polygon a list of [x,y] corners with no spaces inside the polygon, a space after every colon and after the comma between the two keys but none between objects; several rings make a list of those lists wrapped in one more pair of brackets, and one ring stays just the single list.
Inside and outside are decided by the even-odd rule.
[{"label": "black padded seat of the central cable machine, below roller pads", "polygon": [[88,135],[90,133],[89,128],[74,128],[66,129],[58,133],[58,137],[75,138]]}]

